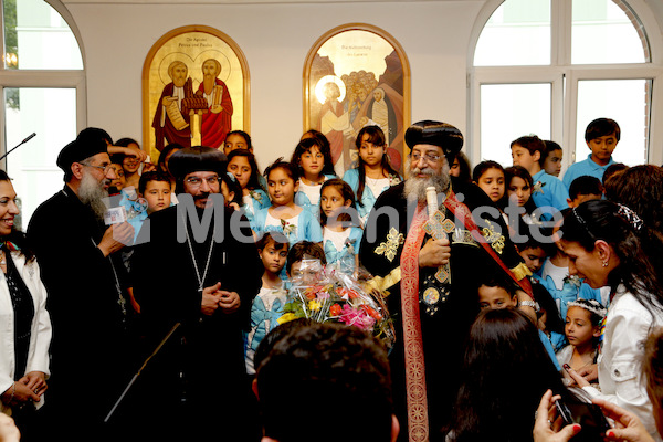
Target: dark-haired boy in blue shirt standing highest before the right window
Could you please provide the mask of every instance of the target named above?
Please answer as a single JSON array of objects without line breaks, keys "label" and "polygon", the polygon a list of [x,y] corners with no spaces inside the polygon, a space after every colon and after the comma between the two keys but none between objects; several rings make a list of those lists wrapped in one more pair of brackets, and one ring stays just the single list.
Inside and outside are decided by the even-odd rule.
[{"label": "dark-haired boy in blue shirt standing highest before the right window", "polygon": [[602,180],[603,172],[612,165],[612,151],[617,147],[621,136],[621,129],[614,119],[597,118],[587,125],[585,129],[585,141],[591,154],[587,159],[571,165],[562,178],[562,182],[569,188],[571,182],[583,175],[597,177]]}]

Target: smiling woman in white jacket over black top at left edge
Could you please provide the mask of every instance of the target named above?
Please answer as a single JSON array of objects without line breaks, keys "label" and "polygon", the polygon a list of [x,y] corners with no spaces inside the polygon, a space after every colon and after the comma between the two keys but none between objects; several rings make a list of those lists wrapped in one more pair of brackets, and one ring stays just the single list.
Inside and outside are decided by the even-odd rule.
[{"label": "smiling woman in white jacket over black top at left edge", "polygon": [[0,170],[0,412],[13,414],[29,438],[48,389],[51,319],[39,265],[14,228],[18,214],[17,193]]}]

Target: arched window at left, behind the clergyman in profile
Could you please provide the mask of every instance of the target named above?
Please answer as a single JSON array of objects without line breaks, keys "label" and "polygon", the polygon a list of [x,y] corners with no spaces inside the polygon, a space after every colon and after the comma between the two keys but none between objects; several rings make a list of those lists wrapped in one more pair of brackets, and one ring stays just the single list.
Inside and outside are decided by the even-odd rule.
[{"label": "arched window at left, behind the clergyman in profile", "polygon": [[62,186],[55,159],[85,126],[85,71],[73,20],[57,0],[49,3],[2,0],[0,152],[36,134],[0,164],[21,199],[23,229]]}]

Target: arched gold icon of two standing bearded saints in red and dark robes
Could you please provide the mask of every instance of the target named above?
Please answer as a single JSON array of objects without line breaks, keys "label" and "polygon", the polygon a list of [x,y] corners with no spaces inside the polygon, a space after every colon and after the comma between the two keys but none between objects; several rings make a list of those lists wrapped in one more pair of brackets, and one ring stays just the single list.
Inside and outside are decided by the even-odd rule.
[{"label": "arched gold icon of two standing bearded saints in red and dark robes", "polygon": [[154,158],[171,143],[220,148],[230,130],[249,130],[249,67],[224,33],[175,29],[143,67],[144,146]]}]

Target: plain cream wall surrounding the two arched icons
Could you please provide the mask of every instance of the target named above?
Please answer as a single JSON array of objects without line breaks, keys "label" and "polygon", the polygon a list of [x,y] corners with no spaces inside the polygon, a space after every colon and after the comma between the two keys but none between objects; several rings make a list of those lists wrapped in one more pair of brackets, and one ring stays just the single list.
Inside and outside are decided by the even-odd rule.
[{"label": "plain cream wall surrounding the two arched icons", "polygon": [[242,49],[251,75],[251,136],[261,166],[290,158],[303,131],[304,62],[340,24],[390,33],[411,70],[412,122],[441,119],[466,133],[466,54],[485,1],[281,4],[146,4],[64,1],[81,32],[87,125],[143,139],[141,71],[152,44],[191,24],[217,28]]}]

